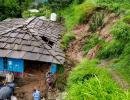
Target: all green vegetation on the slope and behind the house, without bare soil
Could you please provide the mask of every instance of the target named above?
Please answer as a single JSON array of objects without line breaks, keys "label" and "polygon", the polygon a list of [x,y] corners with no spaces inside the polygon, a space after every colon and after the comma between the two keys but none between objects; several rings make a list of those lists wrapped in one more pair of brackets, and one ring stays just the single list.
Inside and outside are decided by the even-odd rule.
[{"label": "all green vegetation on the slope and behind the house, without bare soil", "polygon": [[[49,17],[51,12],[57,12],[66,28],[61,40],[61,46],[65,50],[76,38],[74,27],[89,21],[90,36],[83,45],[83,51],[87,53],[99,44],[101,48],[97,59],[116,59],[111,64],[112,68],[130,82],[130,0],[49,0],[40,5],[38,13],[27,10],[31,2],[32,0],[0,0],[0,20],[13,17]],[[110,42],[103,41],[98,35],[104,26],[104,13],[115,13],[121,17],[111,27],[113,39]],[[67,81],[66,100],[128,100],[129,93],[122,90],[109,73],[98,66],[98,62],[85,59],[71,71]],[[62,67],[58,68],[59,73],[62,73]],[[56,81],[59,89],[63,89],[62,82],[66,85],[63,77],[64,75],[59,76]]]}]

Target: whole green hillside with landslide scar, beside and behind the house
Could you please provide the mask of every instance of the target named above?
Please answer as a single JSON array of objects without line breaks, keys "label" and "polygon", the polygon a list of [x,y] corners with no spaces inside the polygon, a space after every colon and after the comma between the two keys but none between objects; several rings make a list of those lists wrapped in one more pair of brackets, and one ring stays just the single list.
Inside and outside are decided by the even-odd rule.
[{"label": "whole green hillside with landslide scar, beside and behind the house", "polygon": [[65,27],[67,81],[58,80],[65,100],[130,100],[130,0],[48,0],[30,13],[32,2],[1,1],[0,20],[57,13]]}]

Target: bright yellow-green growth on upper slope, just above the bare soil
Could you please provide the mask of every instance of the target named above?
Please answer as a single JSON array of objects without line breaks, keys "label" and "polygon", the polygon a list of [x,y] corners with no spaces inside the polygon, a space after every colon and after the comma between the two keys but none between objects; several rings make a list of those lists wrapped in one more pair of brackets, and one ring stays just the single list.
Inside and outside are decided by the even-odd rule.
[{"label": "bright yellow-green growth on upper slope, just above the bare soil", "polygon": [[67,8],[62,14],[65,18],[65,26],[68,30],[73,29],[75,25],[83,23],[87,20],[88,16],[96,8],[95,2],[93,0],[87,0],[80,5],[72,4]]}]

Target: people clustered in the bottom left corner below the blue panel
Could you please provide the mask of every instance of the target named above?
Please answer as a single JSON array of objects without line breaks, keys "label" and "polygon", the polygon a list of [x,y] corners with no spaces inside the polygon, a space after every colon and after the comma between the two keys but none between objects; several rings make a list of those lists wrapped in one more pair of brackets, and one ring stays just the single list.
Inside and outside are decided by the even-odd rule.
[{"label": "people clustered in the bottom left corner below the blue panel", "polygon": [[0,100],[17,100],[13,95],[15,89],[14,75],[8,72],[5,75],[5,80],[0,84]]}]

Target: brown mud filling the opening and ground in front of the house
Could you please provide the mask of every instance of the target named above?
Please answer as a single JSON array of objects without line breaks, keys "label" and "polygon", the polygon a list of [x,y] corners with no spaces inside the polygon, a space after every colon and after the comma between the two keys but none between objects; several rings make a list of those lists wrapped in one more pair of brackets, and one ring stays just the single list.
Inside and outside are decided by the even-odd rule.
[{"label": "brown mud filling the opening and ground in front of the house", "polygon": [[33,100],[32,92],[38,88],[42,96],[46,95],[45,74],[48,71],[48,65],[27,68],[23,77],[16,78],[17,88],[15,90],[18,100]]}]

